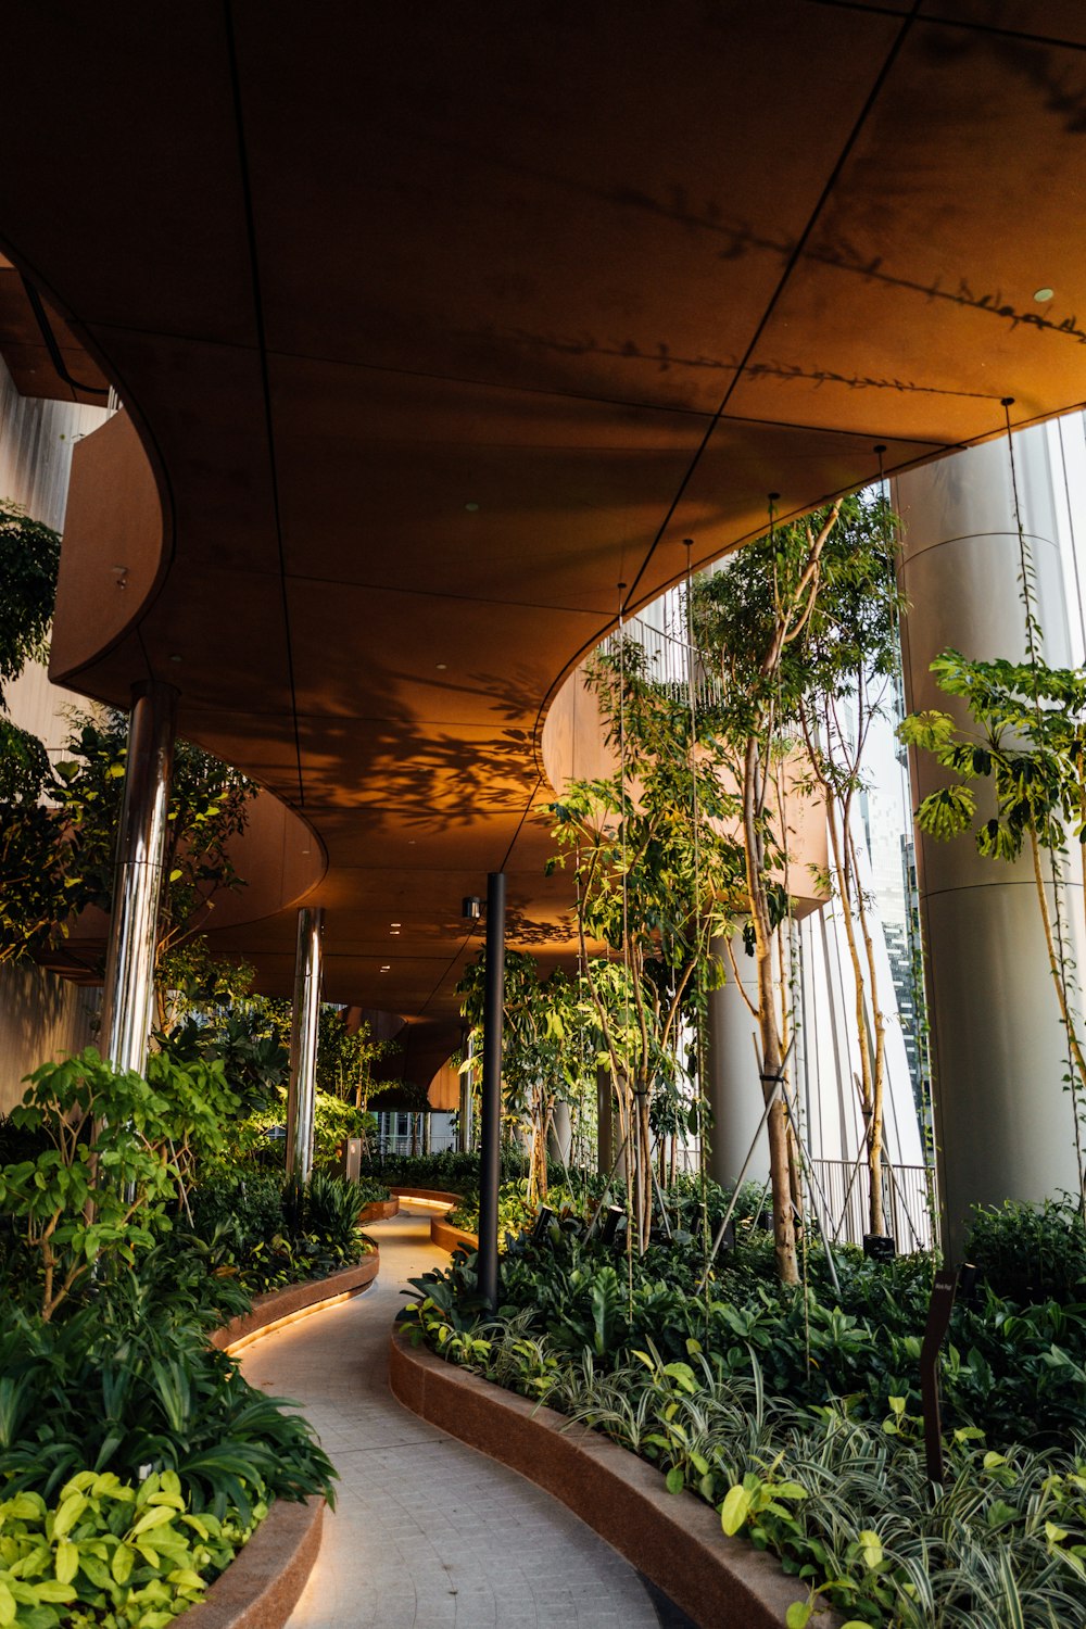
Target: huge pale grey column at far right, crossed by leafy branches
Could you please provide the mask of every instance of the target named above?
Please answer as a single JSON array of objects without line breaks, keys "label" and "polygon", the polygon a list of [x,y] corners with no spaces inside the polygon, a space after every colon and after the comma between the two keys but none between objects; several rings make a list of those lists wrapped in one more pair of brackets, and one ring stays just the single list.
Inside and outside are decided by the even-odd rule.
[{"label": "huge pale grey column at far right, crossed by leafy branches", "polygon": [[[1044,656],[1068,660],[1053,482],[1044,427],[1014,437],[1023,526],[1036,572]],[[904,521],[905,697],[966,722],[930,663],[948,647],[975,660],[1026,656],[1019,538],[1005,440],[910,471],[896,482]],[[946,785],[935,759],[912,754],[913,800]],[[979,798],[985,784],[977,785]],[[1071,849],[1078,849],[1071,844]],[[1083,959],[1081,862],[1065,914]],[[1049,973],[1032,865],[983,858],[970,837],[917,834],[926,943],[935,1121],[944,1240],[961,1256],[969,1210],[1003,1199],[1076,1191],[1066,1041]]]}]

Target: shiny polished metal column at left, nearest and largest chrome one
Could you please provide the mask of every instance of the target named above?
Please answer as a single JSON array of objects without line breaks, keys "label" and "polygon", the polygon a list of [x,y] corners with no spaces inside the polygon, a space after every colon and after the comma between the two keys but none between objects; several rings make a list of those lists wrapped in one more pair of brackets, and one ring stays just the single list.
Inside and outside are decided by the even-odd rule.
[{"label": "shiny polished metal column at left, nearest and largest chrome one", "polygon": [[173,684],[134,686],[101,1036],[114,1069],[137,1074],[147,1064],[155,1013],[155,943],[176,720]]}]

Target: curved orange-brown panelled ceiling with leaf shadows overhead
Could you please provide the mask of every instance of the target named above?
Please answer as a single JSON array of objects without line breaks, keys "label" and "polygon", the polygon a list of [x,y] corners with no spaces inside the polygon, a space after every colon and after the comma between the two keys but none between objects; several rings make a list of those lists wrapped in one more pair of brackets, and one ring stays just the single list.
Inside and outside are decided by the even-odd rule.
[{"label": "curved orange-brown panelled ceiling with leaf shadows overhead", "polygon": [[[5,46],[0,238],[166,523],[68,683],[179,683],[304,810],[326,987],[420,1044],[485,872],[562,943],[537,731],[619,583],[1086,396],[1079,0],[11,0]],[[293,920],[225,943],[287,986]]]}]

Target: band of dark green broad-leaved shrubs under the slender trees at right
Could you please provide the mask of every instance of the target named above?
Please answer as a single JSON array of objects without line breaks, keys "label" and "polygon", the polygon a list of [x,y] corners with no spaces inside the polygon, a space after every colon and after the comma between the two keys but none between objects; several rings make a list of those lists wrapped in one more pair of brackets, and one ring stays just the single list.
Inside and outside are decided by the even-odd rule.
[{"label": "band of dark green broad-leaved shrubs under the slender trees at right", "polygon": [[[855,1417],[882,1419],[887,1396],[920,1407],[920,1344],[933,1261],[905,1256],[868,1261],[834,1253],[837,1289],[817,1241],[806,1251],[806,1293],[782,1287],[772,1267],[772,1238],[739,1227],[736,1248],[720,1254],[702,1292],[703,1254],[695,1241],[655,1241],[633,1259],[586,1241],[571,1217],[544,1240],[508,1245],[501,1306],[524,1311],[528,1333],[599,1365],[619,1365],[655,1341],[664,1360],[685,1360],[695,1339],[728,1373],[757,1359],[767,1390],[817,1406],[848,1398]],[[622,1293],[614,1290],[617,1279]],[[420,1280],[423,1293],[443,1277],[451,1305],[474,1310],[474,1264],[454,1261]],[[601,1344],[601,1331],[604,1331]],[[943,1360],[943,1414],[949,1429],[975,1425],[996,1443],[1066,1445],[1081,1425],[1086,1396],[1086,1306],[1040,1302],[1019,1306],[992,1289],[954,1308]]]}]

